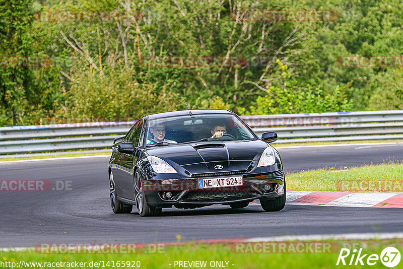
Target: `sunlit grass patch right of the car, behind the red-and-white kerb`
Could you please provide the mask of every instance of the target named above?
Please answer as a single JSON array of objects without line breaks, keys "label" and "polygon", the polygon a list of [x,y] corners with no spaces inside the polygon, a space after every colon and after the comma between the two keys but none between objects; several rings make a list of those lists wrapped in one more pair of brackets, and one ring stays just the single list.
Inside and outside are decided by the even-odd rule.
[{"label": "sunlit grass patch right of the car, behind the red-and-white kerb", "polygon": [[288,173],[291,190],[328,190],[351,192],[403,192],[403,164],[390,162],[355,168]]}]

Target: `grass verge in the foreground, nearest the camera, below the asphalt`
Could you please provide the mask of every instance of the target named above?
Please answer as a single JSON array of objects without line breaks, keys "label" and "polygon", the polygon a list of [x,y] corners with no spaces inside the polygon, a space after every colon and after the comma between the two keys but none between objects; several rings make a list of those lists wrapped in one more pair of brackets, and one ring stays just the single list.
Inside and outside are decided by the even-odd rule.
[{"label": "grass verge in the foreground, nearest the camera, below the asphalt", "polygon": [[[241,244],[241,245],[237,245]],[[283,244],[283,248],[280,245]],[[298,246],[299,245],[299,246]],[[327,247],[325,247],[327,245]],[[211,262],[222,262],[223,267],[228,268],[334,268],[342,248],[351,250],[350,256],[345,258],[346,263],[350,262],[353,249],[362,248],[362,254],[366,258],[370,254],[381,255],[386,247],[395,247],[400,252],[403,248],[403,239],[390,240],[355,240],[355,241],[304,241],[304,242],[268,242],[263,247],[263,243],[234,243],[234,244],[186,244],[183,246],[164,247],[164,251],[159,253],[141,253],[141,254],[42,254],[35,250],[0,252],[0,258],[5,265],[6,261],[14,262],[16,267],[23,261],[23,268],[40,268],[46,267],[46,263],[52,262],[83,262],[82,268],[92,268],[94,262],[101,263],[101,268],[118,268],[118,267],[137,267],[137,268],[178,268],[175,261],[206,261],[206,266],[192,266],[195,268],[206,267],[216,268],[219,266],[211,266]],[[302,247],[301,247],[302,246]],[[318,247],[319,246],[319,247]],[[302,250],[302,251],[301,251]],[[246,253],[245,253],[246,252]],[[252,253],[255,252],[255,253]],[[257,253],[256,253],[257,252]],[[363,263],[366,263],[366,258]],[[140,261],[140,264],[139,262]],[[27,264],[27,262],[41,262],[42,264]],[[86,264],[84,264],[86,262]],[[92,267],[90,266],[92,263]],[[109,262],[109,263],[108,263]],[[117,265],[119,262],[119,265]],[[127,263],[129,262],[129,263]],[[227,263],[228,262],[228,263]],[[354,261],[355,262],[355,259]],[[380,260],[375,261],[376,264],[371,268],[385,268]],[[401,262],[400,262],[401,263]],[[109,266],[107,266],[109,264]],[[113,266],[112,266],[113,264]],[[122,266],[122,264],[124,264]],[[130,266],[127,266],[129,264]],[[29,265],[29,266],[27,266]],[[49,264],[50,265],[50,264]],[[56,265],[56,264],[54,264]],[[132,266],[134,265],[134,266]],[[140,266],[138,266],[140,265]],[[343,265],[341,265],[343,266]],[[353,263],[354,266],[354,263]],[[359,268],[367,267],[354,266]],[[11,266],[2,266],[3,268],[11,268]],[[66,264],[59,267],[68,267]],[[183,267],[183,266],[180,266]],[[397,268],[397,267],[396,267]]]}]

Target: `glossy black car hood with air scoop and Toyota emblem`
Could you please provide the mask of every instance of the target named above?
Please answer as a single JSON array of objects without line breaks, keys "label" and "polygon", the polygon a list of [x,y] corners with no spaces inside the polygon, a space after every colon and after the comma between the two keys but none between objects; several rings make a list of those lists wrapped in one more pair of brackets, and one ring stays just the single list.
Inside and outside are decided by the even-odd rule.
[{"label": "glossy black car hood with air scoop and Toyota emblem", "polygon": [[[209,141],[184,145],[152,147],[149,155],[157,156],[172,166],[181,166],[190,173],[247,170],[259,158],[267,144],[255,141]],[[217,169],[215,168],[222,168]]]}]

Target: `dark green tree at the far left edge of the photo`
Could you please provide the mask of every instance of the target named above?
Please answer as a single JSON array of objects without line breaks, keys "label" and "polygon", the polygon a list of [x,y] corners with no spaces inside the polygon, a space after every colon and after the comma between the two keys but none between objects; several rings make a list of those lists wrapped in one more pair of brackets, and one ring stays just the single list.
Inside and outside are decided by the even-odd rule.
[{"label": "dark green tree at the far left edge of the photo", "polygon": [[[35,104],[37,89],[31,69],[18,62],[33,52],[29,29],[31,1],[0,1],[0,124],[16,124],[27,105]],[[23,121],[23,120],[21,120]]]}]

